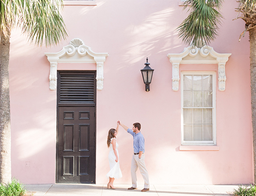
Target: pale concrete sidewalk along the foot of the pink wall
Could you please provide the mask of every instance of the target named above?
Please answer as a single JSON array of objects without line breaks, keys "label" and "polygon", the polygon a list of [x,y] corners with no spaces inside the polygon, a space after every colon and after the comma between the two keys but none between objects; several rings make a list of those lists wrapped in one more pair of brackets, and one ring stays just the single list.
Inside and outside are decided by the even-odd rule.
[{"label": "pale concrete sidewalk along the foot of the pink wall", "polygon": [[238,185],[159,185],[151,184],[150,190],[127,190],[131,185],[115,184],[116,189],[107,189],[106,184],[27,184],[28,195],[34,196],[230,196]]}]

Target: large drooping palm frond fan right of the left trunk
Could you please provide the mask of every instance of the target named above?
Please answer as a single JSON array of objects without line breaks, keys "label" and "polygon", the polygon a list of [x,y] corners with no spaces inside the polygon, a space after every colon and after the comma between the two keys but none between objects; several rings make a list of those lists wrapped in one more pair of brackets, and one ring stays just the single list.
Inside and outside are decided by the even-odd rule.
[{"label": "large drooping palm frond fan right of the left trunk", "polygon": [[62,0],[27,0],[20,18],[23,33],[36,45],[56,45],[67,36],[63,18],[59,13]]}]

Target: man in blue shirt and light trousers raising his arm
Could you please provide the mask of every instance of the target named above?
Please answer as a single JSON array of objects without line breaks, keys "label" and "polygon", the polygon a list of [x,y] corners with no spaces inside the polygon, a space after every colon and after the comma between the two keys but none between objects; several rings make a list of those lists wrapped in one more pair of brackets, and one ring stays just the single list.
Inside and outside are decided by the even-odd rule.
[{"label": "man in blue shirt and light trousers raising his arm", "polygon": [[148,179],[148,171],[145,165],[145,140],[143,135],[141,134],[141,124],[134,123],[132,130],[123,125],[120,121],[119,124],[134,137],[134,155],[132,157],[132,166],[131,166],[131,175],[132,175],[132,187],[128,188],[128,190],[137,189],[137,176],[136,171],[139,167],[139,171],[145,181],[144,189],[142,192],[149,191],[149,179]]}]

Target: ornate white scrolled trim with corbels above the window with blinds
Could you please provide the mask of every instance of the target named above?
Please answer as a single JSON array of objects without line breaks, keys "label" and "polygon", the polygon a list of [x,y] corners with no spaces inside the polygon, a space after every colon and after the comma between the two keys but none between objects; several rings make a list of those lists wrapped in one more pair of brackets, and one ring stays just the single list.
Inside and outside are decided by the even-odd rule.
[{"label": "ornate white scrolled trim with corbels above the window with blinds", "polygon": [[[167,57],[169,58],[171,64],[173,65],[173,91],[178,91],[179,89],[180,64],[218,64],[219,91],[224,91],[226,88],[225,65],[230,55],[230,53],[217,53],[213,50],[213,47],[210,47],[205,44],[203,44],[201,47],[185,47],[182,53],[167,54]],[[185,57],[186,59],[184,59]]]}]

